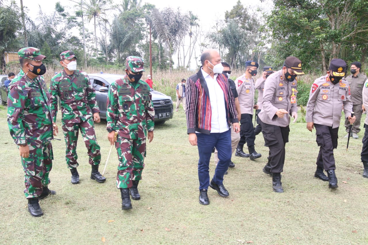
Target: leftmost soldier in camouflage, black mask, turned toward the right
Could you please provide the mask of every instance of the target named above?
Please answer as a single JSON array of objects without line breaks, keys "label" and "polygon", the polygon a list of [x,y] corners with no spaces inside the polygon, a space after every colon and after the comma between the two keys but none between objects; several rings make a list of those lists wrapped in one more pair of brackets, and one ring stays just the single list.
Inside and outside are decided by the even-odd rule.
[{"label": "leftmost soldier in camouflage, black mask, turned toward the right", "polygon": [[28,211],[37,217],[43,215],[38,200],[55,195],[48,185],[53,160],[50,141],[57,126],[52,123],[50,94],[42,77],[46,57],[34,47],[20,49],[18,57],[22,68],[8,87],[8,126],[21,156]]}]

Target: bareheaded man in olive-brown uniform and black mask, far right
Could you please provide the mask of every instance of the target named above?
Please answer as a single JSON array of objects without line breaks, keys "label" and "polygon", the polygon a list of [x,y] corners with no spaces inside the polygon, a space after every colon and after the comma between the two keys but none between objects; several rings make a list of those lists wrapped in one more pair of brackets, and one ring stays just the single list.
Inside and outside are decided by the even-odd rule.
[{"label": "bareheaded man in olive-brown uniform and black mask, far right", "polygon": [[[350,87],[350,93],[351,93],[351,102],[353,102],[353,111],[355,117],[357,117],[357,120],[355,120],[355,123],[353,124],[353,128],[351,129],[350,136],[354,139],[358,139],[358,133],[360,132],[360,119],[362,117],[362,112],[364,107],[363,105],[363,99],[362,99],[362,91],[365,81],[367,81],[367,77],[360,73],[360,68],[362,67],[362,64],[358,61],[355,61],[351,63],[350,72],[351,75],[346,77],[346,81],[349,84]],[[350,123],[346,119],[345,120],[345,128],[346,132],[349,132]],[[347,138],[348,134],[344,137]]]}]

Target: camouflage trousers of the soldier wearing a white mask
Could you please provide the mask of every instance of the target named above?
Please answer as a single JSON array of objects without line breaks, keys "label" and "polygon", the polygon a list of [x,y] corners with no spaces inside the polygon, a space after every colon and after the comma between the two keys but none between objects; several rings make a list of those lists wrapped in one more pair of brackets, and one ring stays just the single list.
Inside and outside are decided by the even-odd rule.
[{"label": "camouflage trousers of the soldier wearing a white mask", "polygon": [[77,141],[79,130],[81,131],[84,143],[87,148],[89,164],[100,164],[100,146],[97,143],[95,129],[93,128],[93,118],[89,118],[86,121],[81,121],[80,123],[63,122],[62,127],[66,143],[65,160],[69,169],[76,168],[79,165],[77,162]]}]

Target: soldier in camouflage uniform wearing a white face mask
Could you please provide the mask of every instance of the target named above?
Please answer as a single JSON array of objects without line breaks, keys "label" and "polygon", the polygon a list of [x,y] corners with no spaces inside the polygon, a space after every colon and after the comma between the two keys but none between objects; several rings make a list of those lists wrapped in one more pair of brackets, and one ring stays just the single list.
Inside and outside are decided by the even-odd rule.
[{"label": "soldier in camouflage uniform wearing a white face mask", "polygon": [[[91,179],[99,183],[105,182],[98,171],[101,161],[100,146],[96,140],[93,121],[100,122],[99,108],[96,102],[95,89],[91,88],[89,79],[77,70],[77,57],[67,50],[60,54],[60,64],[64,69],[56,74],[50,83],[52,118],[56,122],[57,97],[61,102],[63,132],[66,143],[65,159],[71,171],[71,183],[79,183],[77,141],[81,131],[92,166]],[[92,111],[91,111],[92,110]],[[93,115],[92,115],[93,113]]]}]

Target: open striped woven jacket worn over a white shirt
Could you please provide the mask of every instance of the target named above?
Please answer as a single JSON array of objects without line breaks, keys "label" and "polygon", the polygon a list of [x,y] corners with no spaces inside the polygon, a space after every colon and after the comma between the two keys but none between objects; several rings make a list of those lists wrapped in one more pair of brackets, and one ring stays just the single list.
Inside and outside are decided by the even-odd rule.
[{"label": "open striped woven jacket worn over a white shirt", "polygon": [[[203,134],[210,134],[211,131],[211,104],[207,83],[202,75],[201,68],[197,74],[187,79],[185,96],[187,97],[188,134],[195,133],[196,131]],[[231,92],[229,81],[224,74],[218,74],[216,80],[224,91],[226,120],[230,127],[230,123],[238,123],[234,96]]]}]

